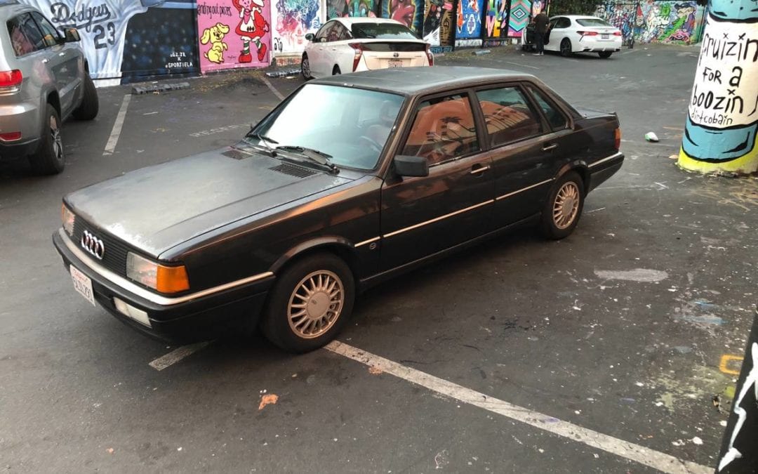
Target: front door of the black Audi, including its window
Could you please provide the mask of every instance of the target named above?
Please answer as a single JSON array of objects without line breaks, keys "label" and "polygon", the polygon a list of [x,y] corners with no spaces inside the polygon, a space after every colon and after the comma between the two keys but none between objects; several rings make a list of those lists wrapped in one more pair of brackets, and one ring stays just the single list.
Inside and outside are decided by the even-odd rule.
[{"label": "front door of the black Audi, including its window", "polygon": [[381,191],[381,266],[396,268],[481,236],[493,228],[491,160],[471,93],[421,99],[398,155],[428,160],[425,177],[390,171]]}]

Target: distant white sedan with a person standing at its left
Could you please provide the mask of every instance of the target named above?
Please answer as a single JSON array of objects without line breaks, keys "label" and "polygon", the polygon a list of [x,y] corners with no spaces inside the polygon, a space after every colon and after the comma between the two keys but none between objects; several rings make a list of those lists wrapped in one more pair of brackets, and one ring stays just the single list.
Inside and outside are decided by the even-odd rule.
[{"label": "distant white sedan with a person standing at its left", "polygon": [[575,52],[597,52],[600,58],[610,58],[621,51],[621,30],[598,17],[564,15],[550,18],[545,35],[545,50],[558,51],[563,56]]}]

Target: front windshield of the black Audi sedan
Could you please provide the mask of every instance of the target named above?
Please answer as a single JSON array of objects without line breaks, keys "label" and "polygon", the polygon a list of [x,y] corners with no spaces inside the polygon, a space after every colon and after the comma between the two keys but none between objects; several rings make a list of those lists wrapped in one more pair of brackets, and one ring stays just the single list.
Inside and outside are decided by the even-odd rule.
[{"label": "front windshield of the black Audi sedan", "polygon": [[288,153],[293,147],[316,150],[334,165],[370,170],[377,165],[402,102],[402,96],[392,93],[306,84],[245,140]]}]

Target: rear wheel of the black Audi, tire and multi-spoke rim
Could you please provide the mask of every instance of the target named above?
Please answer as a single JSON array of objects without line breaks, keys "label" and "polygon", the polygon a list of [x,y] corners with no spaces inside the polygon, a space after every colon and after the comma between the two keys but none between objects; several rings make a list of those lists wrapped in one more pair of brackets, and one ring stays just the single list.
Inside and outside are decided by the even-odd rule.
[{"label": "rear wheel of the black Audi, tire and multi-spoke rim", "polygon": [[576,171],[568,171],[556,180],[542,211],[540,231],[544,237],[559,240],[576,227],[584,208],[584,181]]}]

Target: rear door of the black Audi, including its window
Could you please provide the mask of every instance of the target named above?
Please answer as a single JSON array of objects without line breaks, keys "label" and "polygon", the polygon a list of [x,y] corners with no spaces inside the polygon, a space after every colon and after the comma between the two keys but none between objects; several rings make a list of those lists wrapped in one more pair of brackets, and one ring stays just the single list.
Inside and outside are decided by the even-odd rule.
[{"label": "rear door of the black Audi, including its window", "polygon": [[557,172],[559,146],[520,84],[477,89],[476,98],[487,124],[495,185],[493,218],[497,227],[504,227],[540,212]]}]

